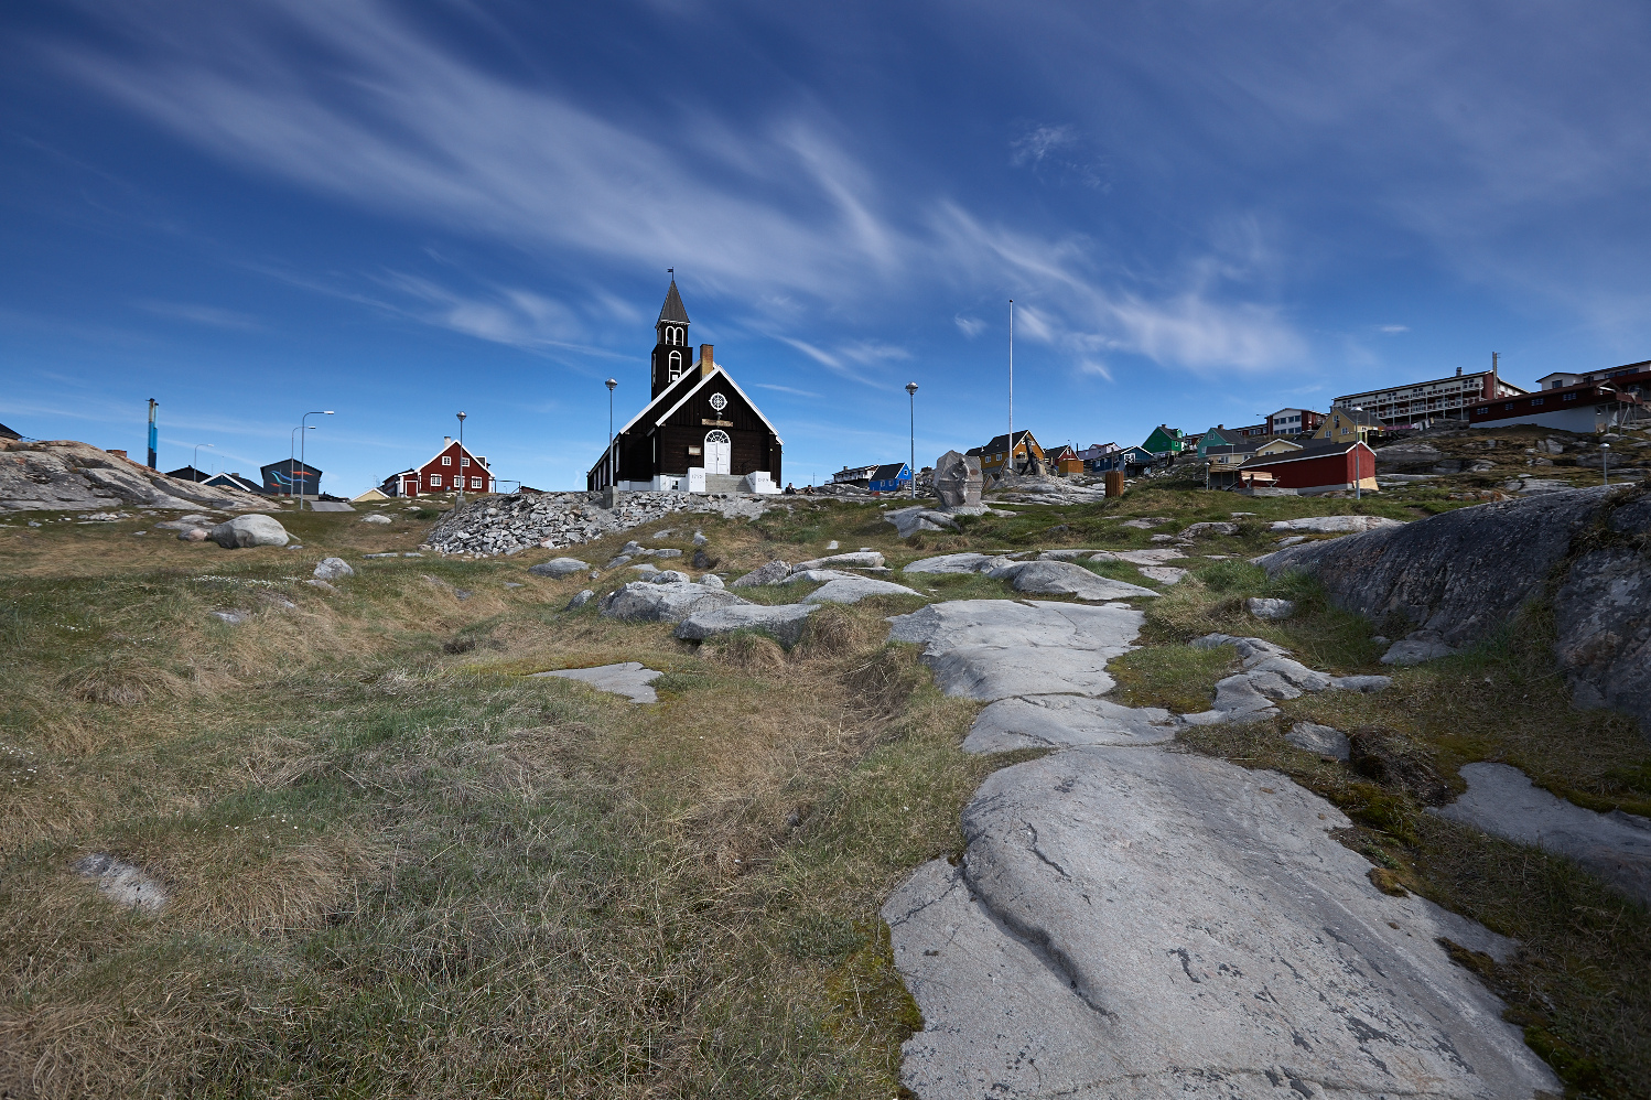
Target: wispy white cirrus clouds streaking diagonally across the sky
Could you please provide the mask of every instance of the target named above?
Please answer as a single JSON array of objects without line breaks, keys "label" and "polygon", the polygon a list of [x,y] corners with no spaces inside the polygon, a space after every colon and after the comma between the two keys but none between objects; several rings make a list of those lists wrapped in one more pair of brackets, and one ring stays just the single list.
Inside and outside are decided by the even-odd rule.
[{"label": "wispy white cirrus clouds streaking diagonally across the sky", "polygon": [[[944,195],[901,195],[849,152],[817,107],[776,109],[756,134],[733,134],[687,106],[654,126],[621,122],[548,83],[482,69],[376,0],[325,12],[299,0],[269,0],[256,15],[203,12],[165,33],[139,12],[117,23],[124,50],[56,46],[54,58],[261,175],[604,269],[693,258],[703,284],[778,311],[789,297],[863,299],[946,271],[971,296],[1014,279],[1048,315],[1042,339],[1071,353],[1095,345],[1169,367],[1265,370],[1301,345],[1288,320],[1245,301],[1237,281],[1217,291],[1192,268],[1180,286],[1162,273],[1141,279],[1090,239],[986,228]],[[292,40],[329,66],[320,74],[292,66],[281,53]],[[1050,165],[1078,142],[1071,127],[1037,126],[1014,155]],[[411,315],[477,339],[580,340],[576,317],[532,292],[461,296],[416,279],[398,291],[416,302]],[[971,317],[956,324],[971,339],[981,332]],[[865,380],[845,363],[877,362],[870,344],[788,342],[857,382]]]}]

